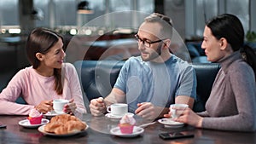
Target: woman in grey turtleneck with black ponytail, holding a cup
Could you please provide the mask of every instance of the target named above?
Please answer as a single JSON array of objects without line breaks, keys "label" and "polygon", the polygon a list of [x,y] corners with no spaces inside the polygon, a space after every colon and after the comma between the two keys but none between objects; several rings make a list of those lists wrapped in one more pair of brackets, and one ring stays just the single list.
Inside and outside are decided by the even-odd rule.
[{"label": "woman in grey turtleneck with black ponytail, holding a cup", "polygon": [[206,111],[186,108],[178,122],[214,130],[256,130],[256,55],[244,45],[241,21],[233,14],[221,14],[207,22],[204,40],[207,60],[221,69],[212,85]]}]

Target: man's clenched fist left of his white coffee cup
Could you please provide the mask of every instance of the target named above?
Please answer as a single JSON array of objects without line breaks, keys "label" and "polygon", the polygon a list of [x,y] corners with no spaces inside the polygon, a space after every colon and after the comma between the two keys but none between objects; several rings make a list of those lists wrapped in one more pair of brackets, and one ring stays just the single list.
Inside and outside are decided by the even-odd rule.
[{"label": "man's clenched fist left of his white coffee cup", "polygon": [[102,97],[92,99],[90,101],[89,107],[90,107],[90,112],[93,116],[100,116],[107,111],[106,103]]}]

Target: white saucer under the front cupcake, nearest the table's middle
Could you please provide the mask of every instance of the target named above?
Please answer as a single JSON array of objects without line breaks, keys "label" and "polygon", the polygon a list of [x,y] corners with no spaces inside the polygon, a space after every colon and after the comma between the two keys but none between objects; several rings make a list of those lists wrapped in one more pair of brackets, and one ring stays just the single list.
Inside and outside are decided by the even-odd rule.
[{"label": "white saucer under the front cupcake, nearest the table's middle", "polygon": [[116,136],[119,136],[119,137],[135,137],[137,135],[143,134],[143,132],[144,132],[144,129],[140,128],[140,127],[137,127],[137,126],[133,127],[132,134],[122,134],[119,127],[115,127],[115,128],[110,130],[110,133],[112,135],[116,135]]}]

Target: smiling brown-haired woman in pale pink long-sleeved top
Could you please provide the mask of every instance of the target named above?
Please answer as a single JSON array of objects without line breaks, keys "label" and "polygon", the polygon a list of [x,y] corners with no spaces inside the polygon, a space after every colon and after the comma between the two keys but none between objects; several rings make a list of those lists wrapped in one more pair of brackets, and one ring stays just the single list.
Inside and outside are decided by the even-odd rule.
[{"label": "smiling brown-haired woman in pale pink long-sleeved top", "polygon": [[[34,29],[26,43],[26,55],[32,66],[15,74],[0,94],[0,114],[28,115],[53,110],[52,101],[66,99],[64,112],[85,113],[79,77],[70,63],[63,63],[63,38],[45,28]],[[27,105],[15,103],[22,96]]]}]

